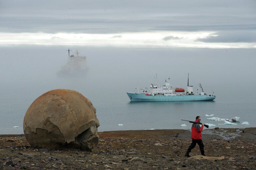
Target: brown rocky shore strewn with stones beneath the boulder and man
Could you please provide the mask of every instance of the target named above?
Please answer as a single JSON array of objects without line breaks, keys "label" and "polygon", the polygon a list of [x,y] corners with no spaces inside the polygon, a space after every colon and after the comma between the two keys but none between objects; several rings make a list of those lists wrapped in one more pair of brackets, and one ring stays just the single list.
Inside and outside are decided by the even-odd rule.
[{"label": "brown rocky shore strewn with stones beneath the boulder and man", "polygon": [[48,150],[29,145],[23,135],[0,135],[2,169],[256,169],[256,128],[203,130],[207,157],[199,147],[184,157],[189,130],[98,132],[93,152]]}]

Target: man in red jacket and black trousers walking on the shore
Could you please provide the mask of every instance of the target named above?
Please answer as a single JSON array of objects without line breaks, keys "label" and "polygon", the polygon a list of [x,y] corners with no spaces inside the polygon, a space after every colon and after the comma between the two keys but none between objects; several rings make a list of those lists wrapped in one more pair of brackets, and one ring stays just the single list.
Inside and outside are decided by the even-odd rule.
[{"label": "man in red jacket and black trousers walking on the shore", "polygon": [[[200,116],[197,116],[195,122],[200,123],[200,121],[201,121]],[[185,156],[190,157],[189,152],[191,152],[191,149],[193,149],[196,146],[196,144],[199,145],[201,154],[203,156],[206,156],[204,154],[204,144],[203,144],[203,141],[202,141],[202,130],[203,130],[203,128],[204,128],[204,124],[202,124],[201,128],[200,128],[199,124],[192,124],[192,127],[191,127],[191,130],[192,130],[192,132],[191,132],[192,143],[188,147],[188,150],[187,150]]]}]

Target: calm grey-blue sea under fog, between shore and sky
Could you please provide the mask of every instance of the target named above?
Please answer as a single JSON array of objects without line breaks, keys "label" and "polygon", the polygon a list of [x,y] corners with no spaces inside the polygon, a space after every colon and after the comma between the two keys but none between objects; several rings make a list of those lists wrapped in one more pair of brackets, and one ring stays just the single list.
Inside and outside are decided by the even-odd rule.
[{"label": "calm grey-blue sea under fog, between shore and sky", "polygon": [[[68,48],[74,55],[76,49],[86,55],[86,62],[70,63]],[[0,50],[0,134],[23,133],[30,104],[59,88],[76,90],[92,101],[100,122],[98,131],[190,129],[191,124],[181,119],[194,121],[196,116],[220,128],[256,127],[256,49],[1,46]],[[126,94],[136,92],[137,85],[149,88],[155,74],[158,84],[170,77],[171,85],[186,89],[188,73],[195,93],[200,92],[201,83],[206,93],[215,92],[216,99],[130,102]],[[218,125],[224,122],[206,120],[206,114],[240,117],[240,122]]]}]

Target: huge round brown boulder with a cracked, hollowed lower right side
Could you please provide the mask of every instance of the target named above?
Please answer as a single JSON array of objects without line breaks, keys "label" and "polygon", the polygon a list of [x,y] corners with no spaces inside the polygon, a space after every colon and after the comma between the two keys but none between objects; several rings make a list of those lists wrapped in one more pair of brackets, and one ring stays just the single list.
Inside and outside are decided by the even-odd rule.
[{"label": "huge round brown boulder with a cracked, hollowed lower right side", "polygon": [[74,90],[56,89],[39,96],[28,108],[23,130],[32,147],[92,151],[100,126],[91,101]]}]

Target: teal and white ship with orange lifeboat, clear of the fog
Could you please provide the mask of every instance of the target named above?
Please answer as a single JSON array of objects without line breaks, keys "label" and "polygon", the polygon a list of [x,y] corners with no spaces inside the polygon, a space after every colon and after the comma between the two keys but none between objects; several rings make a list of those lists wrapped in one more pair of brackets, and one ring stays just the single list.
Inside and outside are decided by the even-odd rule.
[{"label": "teal and white ship with orange lifeboat, clear of the fog", "polygon": [[178,86],[171,86],[169,83],[170,78],[165,80],[165,85],[159,86],[157,82],[150,85],[150,92],[147,88],[140,89],[143,93],[127,93],[131,101],[145,101],[145,102],[158,102],[158,101],[212,101],[216,98],[214,92],[212,95],[207,95],[199,83],[201,92],[194,94],[193,86],[189,86],[187,90],[178,88]]}]

